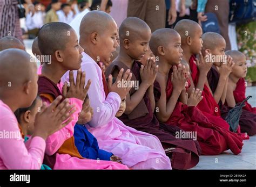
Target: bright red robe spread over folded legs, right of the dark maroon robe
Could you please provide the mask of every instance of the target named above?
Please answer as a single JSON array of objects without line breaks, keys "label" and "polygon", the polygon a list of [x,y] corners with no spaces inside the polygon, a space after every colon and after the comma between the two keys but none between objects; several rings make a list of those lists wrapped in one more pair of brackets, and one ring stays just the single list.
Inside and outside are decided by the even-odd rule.
[{"label": "bright red robe spread over folded legs, right of the dark maroon robe", "polygon": [[[171,73],[172,69],[166,84],[167,101],[173,90]],[[159,84],[154,86],[155,92],[160,92]],[[158,99],[156,97],[156,100]],[[178,126],[187,132],[197,132],[197,140],[201,146],[202,155],[218,155],[227,149],[231,149],[236,155],[241,152],[243,143],[240,136],[215,125],[217,121],[208,119],[197,107],[177,102],[170,118],[165,123],[170,126]]]}]

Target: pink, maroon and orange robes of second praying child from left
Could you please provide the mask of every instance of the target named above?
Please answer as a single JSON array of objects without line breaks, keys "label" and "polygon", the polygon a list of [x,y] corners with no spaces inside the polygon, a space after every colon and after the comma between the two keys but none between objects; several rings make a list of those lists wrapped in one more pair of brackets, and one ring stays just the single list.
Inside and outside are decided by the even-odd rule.
[{"label": "pink, maroon and orange robes of second praying child from left", "polygon": [[[50,104],[56,97],[62,95],[63,83],[59,81],[56,85],[49,78],[40,75],[41,70],[42,66],[38,69],[38,95]],[[83,101],[76,98],[69,100],[71,104],[75,104],[77,111],[72,114],[73,120],[68,125],[46,139],[44,163],[52,169],[129,169],[117,162],[90,160],[80,155],[75,146],[73,133]]]}]

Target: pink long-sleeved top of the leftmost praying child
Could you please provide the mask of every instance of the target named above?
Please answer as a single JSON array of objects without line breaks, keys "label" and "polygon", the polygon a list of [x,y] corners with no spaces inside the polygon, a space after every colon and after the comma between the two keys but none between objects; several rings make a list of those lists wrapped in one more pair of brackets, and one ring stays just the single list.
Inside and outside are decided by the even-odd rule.
[{"label": "pink long-sleeved top of the leftmost praying child", "polygon": [[43,138],[33,137],[30,145],[26,148],[18,128],[18,122],[14,114],[9,114],[9,112],[2,114],[1,111],[0,131],[5,133],[5,138],[0,138],[0,160],[3,161],[6,169],[41,168],[45,150]]}]

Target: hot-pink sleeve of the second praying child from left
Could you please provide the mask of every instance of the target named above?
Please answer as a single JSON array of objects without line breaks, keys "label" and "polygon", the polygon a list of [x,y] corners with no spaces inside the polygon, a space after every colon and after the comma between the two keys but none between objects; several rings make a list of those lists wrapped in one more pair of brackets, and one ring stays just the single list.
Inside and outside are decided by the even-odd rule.
[{"label": "hot-pink sleeve of the second praying child from left", "polygon": [[[46,102],[48,105],[50,104],[48,99],[46,99],[45,97],[41,97],[41,98],[43,102]],[[60,146],[63,145],[64,141],[71,138],[71,136],[73,136],[74,127],[78,120],[78,114],[82,110],[83,101],[77,98],[69,98],[69,100],[70,100],[70,104],[75,104],[75,107],[77,109],[76,112],[73,113],[72,115],[73,120],[68,125],[63,127],[61,130],[48,136],[48,138],[46,139],[46,149],[45,149],[45,153],[47,155],[55,154],[57,150],[60,148]]]}]

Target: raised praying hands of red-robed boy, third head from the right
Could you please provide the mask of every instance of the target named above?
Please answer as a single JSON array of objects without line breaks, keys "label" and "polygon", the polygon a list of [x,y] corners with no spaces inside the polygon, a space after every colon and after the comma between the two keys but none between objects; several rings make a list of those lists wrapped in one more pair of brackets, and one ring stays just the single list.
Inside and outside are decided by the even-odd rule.
[{"label": "raised praying hands of red-robed boy, third head from the right", "polygon": [[[194,61],[194,63],[197,64],[197,67],[199,69],[200,73],[204,73],[207,75],[208,71],[210,71],[211,67],[212,67],[212,60],[211,60],[211,55],[210,53],[208,53],[207,51],[205,51],[205,57],[203,57],[202,53],[200,52],[199,54],[199,60],[196,59],[196,61]],[[210,61],[208,62],[209,59]]]}]

